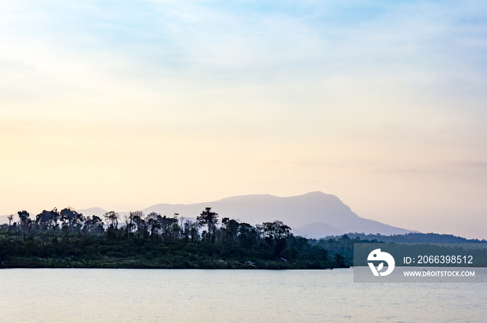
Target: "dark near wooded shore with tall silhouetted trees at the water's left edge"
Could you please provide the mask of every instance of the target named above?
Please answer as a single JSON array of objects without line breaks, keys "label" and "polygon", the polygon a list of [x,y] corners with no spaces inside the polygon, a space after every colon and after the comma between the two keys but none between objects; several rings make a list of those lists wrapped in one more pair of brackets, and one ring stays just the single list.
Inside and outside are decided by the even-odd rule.
[{"label": "dark near wooded shore with tall silhouetted trees at the water's left edge", "polygon": [[1,267],[269,268],[348,267],[337,252],[296,237],[281,221],[252,226],[205,208],[196,221],[175,213],[113,211],[84,216],[72,208],[19,211],[0,226]]}]

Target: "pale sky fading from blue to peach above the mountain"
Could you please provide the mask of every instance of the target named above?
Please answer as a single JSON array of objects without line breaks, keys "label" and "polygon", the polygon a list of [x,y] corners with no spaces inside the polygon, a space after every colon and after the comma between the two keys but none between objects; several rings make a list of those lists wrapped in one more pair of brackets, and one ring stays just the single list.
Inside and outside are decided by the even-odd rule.
[{"label": "pale sky fading from blue to peach above the mountain", "polygon": [[335,194],[487,238],[485,1],[2,1],[0,215]]}]

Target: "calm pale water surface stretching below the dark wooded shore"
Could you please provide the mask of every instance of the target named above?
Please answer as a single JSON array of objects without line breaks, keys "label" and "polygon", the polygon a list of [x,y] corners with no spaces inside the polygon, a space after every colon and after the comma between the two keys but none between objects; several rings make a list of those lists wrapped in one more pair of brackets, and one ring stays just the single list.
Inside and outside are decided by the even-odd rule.
[{"label": "calm pale water surface stretching below the dark wooded shore", "polygon": [[0,270],[0,322],[486,322],[486,288],[353,270]]}]

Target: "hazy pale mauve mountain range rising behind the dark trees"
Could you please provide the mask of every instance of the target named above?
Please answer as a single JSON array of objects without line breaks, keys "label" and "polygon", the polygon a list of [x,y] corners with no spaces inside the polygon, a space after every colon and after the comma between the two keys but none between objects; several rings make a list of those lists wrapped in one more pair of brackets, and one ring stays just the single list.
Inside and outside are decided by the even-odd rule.
[{"label": "hazy pale mauve mountain range rising behind the dark trees", "polygon": [[[294,235],[303,235],[306,238],[323,238],[349,232],[382,235],[415,232],[359,217],[338,197],[323,192],[310,192],[295,197],[276,197],[269,194],[243,195],[198,204],[156,204],[142,211],[146,215],[156,212],[168,217],[177,213],[179,217],[195,220],[195,217],[207,207],[211,207],[218,213],[220,219],[230,217],[252,225],[280,220],[293,229]],[[102,217],[106,210],[87,208],[78,212],[85,216]],[[123,215],[128,213],[119,214],[122,223]],[[0,217],[0,224],[6,223],[6,216],[4,217],[5,219]]]}]

